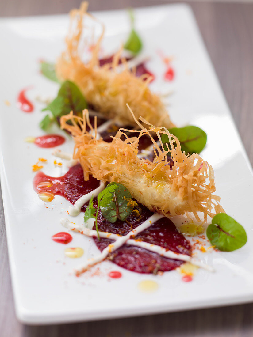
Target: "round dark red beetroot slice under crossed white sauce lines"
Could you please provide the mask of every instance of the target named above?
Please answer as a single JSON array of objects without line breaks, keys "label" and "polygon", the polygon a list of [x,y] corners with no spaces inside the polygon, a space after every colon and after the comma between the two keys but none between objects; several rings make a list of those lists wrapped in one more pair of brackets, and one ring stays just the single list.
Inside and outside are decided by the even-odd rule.
[{"label": "round dark red beetroot slice under crossed white sauce lines", "polygon": [[[124,235],[145,221],[152,213],[141,206],[141,219],[135,215],[130,215],[125,221],[117,220],[114,224],[105,225],[106,219],[102,214],[98,218],[98,227],[101,231]],[[139,208],[139,210],[140,210]],[[131,223],[131,226],[129,225]],[[112,230],[113,227],[113,230]],[[93,227],[95,229],[95,226]],[[178,232],[174,223],[164,217],[154,222],[148,229],[137,235],[136,239],[159,245],[165,249],[172,250],[176,253],[191,255],[191,246],[188,240]],[[97,247],[102,251],[113,240],[94,238]],[[157,253],[150,252],[141,247],[135,247],[124,244],[115,252],[108,256],[108,259],[120,267],[137,272],[137,273],[157,273],[160,271],[170,271],[179,267],[183,262],[174,259],[168,259]]]}]

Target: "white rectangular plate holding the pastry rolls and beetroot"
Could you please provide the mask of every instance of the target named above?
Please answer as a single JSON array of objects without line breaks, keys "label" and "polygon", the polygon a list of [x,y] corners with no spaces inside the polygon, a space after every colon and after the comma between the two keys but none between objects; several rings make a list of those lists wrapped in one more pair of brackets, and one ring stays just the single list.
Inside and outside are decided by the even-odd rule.
[{"label": "white rectangular plate holding the pastry rolls and beetroot", "polygon": [[[104,48],[113,51],[129,31],[125,11],[97,12],[106,25]],[[60,176],[66,167],[54,167],[52,151],[24,142],[26,136],[43,132],[38,123],[44,107],[37,95],[53,98],[58,85],[39,73],[39,59],[54,62],[64,48],[67,16],[3,19],[1,50],[1,183],[4,197],[9,261],[18,318],[24,323],[58,323],[109,317],[151,314],[253,300],[252,170],[232,121],[220,85],[205,51],[193,14],[182,4],[136,10],[136,24],[148,64],[156,74],[151,86],[156,92],[173,91],[169,111],[177,125],[197,125],[208,135],[202,157],[213,165],[217,194],[226,212],[247,231],[248,242],[234,252],[201,253],[200,258],[216,272],[198,270],[192,282],[181,281],[177,271],[163,276],[141,275],[121,269],[122,278],[108,279],[108,271],[120,268],[103,262],[99,275],[87,272],[77,278],[71,271],[87,257],[98,253],[93,240],[73,233],[67,246],[83,247],[79,259],[64,257],[66,246],[51,236],[64,229],[60,218],[69,203],[55,197],[39,200],[32,188],[31,165],[38,157],[48,159],[44,172]],[[173,56],[175,80],[163,81],[165,66],[157,51]],[[27,86],[35,102],[33,113],[16,106],[18,92]],[[4,101],[11,105],[7,106]],[[73,141],[60,147],[73,151]],[[46,208],[48,206],[48,208]],[[74,221],[81,223],[83,215]],[[96,267],[93,269],[96,270]],[[141,280],[155,280],[159,289],[150,294],[138,290]]]}]

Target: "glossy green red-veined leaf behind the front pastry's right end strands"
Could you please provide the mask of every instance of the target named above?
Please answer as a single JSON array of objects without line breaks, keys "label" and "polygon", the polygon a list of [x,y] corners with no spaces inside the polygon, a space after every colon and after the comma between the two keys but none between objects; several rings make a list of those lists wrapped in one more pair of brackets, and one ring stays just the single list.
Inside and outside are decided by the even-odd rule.
[{"label": "glossy green red-veined leaf behind the front pastry's right end strands", "polygon": [[[172,133],[180,142],[181,150],[185,153],[193,154],[200,153],[206,144],[206,133],[197,126],[189,125],[182,128],[171,128],[169,132]],[[162,142],[165,150],[167,150],[166,143],[169,145],[169,137],[167,134],[162,134]]]}]

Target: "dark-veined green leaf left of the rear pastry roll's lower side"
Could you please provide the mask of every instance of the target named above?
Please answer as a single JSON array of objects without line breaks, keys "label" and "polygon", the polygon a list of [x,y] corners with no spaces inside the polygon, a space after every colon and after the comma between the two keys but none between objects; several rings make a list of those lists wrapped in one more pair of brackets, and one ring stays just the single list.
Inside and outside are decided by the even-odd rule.
[{"label": "dark-veined green leaf left of the rear pastry roll's lower side", "polygon": [[58,91],[57,97],[42,111],[51,111],[52,116],[59,124],[59,118],[73,111],[74,115],[81,116],[87,108],[86,100],[79,88],[71,81],[65,81]]}]

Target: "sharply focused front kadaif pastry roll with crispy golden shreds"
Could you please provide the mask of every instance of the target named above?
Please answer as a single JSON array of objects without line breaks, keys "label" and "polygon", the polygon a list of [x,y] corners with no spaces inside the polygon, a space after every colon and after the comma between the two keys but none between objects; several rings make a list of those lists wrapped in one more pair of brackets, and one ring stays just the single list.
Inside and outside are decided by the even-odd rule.
[{"label": "sharply focused front kadaif pastry roll with crispy golden shreds", "polygon": [[[131,109],[130,109],[131,111]],[[132,112],[132,111],[131,111]],[[206,222],[207,216],[213,217],[215,211],[221,212],[220,197],[215,192],[214,172],[212,166],[198,154],[186,155],[181,152],[180,143],[165,127],[154,127],[143,118],[139,123],[138,137],[129,138],[120,129],[112,142],[107,143],[99,137],[89,122],[87,110],[83,111],[83,118],[74,116],[71,112],[61,117],[61,127],[71,132],[75,140],[74,159],[79,159],[84,179],[88,180],[91,174],[103,182],[119,182],[130,191],[132,197],[149,208],[165,216],[182,215],[192,212],[198,221],[201,221],[198,212],[201,212]],[[71,122],[69,125],[67,122]],[[86,131],[86,125],[91,132]],[[160,146],[152,137],[155,132]],[[143,135],[148,135],[153,142],[156,155],[153,162],[138,158],[138,143]],[[171,150],[164,150],[161,134],[167,134]],[[120,137],[124,135],[125,140]],[[173,137],[173,138],[172,138]],[[97,139],[99,138],[99,139]],[[176,143],[174,146],[174,142]],[[170,155],[174,165],[170,169],[167,162]]]}]

